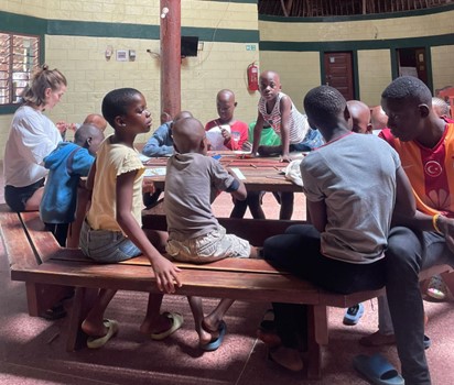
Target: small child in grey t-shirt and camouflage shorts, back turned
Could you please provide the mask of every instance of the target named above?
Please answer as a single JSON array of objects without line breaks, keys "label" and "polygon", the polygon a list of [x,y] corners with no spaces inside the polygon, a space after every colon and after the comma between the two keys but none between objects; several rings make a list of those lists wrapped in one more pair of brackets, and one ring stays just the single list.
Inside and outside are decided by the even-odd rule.
[{"label": "small child in grey t-shirt and camouflage shorts, back turned", "polygon": [[[166,251],[175,260],[209,263],[226,257],[256,257],[257,250],[249,242],[226,230],[212,210],[218,191],[246,198],[245,185],[213,157],[206,156],[207,139],[202,123],[188,118],[173,128],[176,154],[167,162],[165,176],[165,213],[169,240]],[[202,298],[187,297],[193,311],[199,348],[219,348],[226,333],[224,315],[233,299],[221,299],[216,309],[204,318]]]}]

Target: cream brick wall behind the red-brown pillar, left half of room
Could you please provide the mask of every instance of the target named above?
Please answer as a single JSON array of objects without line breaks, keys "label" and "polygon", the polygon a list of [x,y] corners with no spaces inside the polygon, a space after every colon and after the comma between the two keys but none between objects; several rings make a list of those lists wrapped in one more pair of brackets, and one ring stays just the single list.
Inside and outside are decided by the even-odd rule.
[{"label": "cream brick wall behind the red-brown pillar, left half of room", "polygon": [[[4,3],[4,6],[3,6]],[[2,0],[0,10],[43,19],[160,24],[159,0]],[[182,26],[257,30],[257,6],[201,0],[182,0]],[[218,32],[218,31],[216,31]],[[215,33],[216,33],[215,32]],[[259,59],[257,42],[203,42],[197,57],[182,62],[182,109],[190,110],[203,123],[217,117],[215,98],[223,88],[237,96],[237,119],[256,119],[258,92],[247,90],[246,68]],[[134,62],[105,58],[106,47],[136,50]],[[255,51],[247,51],[253,45]],[[150,50],[153,54],[147,53]],[[119,87],[141,90],[153,117],[153,128],[160,118],[160,43],[158,40],[45,36],[45,62],[58,68],[68,80],[66,95],[48,117],[53,121],[82,122],[90,112],[100,112],[106,92]],[[12,116],[0,116],[0,146],[4,143]],[[109,128],[108,132],[112,130]],[[137,139],[145,142],[150,134]],[[68,135],[72,139],[72,135]]]}]

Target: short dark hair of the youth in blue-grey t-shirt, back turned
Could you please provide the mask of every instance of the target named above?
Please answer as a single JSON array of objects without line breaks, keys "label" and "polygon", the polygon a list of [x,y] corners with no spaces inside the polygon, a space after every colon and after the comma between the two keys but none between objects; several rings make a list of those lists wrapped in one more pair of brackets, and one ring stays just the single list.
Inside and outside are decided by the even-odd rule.
[{"label": "short dark hair of the youth in blue-grey t-shirt, back turned", "polygon": [[329,86],[315,87],[304,97],[304,111],[316,125],[329,124],[346,107],[343,95]]}]

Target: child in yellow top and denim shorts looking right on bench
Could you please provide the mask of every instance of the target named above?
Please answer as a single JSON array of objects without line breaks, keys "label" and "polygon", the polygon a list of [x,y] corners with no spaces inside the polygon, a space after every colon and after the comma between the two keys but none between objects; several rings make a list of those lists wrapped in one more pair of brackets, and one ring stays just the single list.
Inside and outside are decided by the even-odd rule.
[{"label": "child in yellow top and denim shorts looking right on bench", "polygon": [[[138,134],[151,128],[145,98],[133,88],[115,89],[102,100],[102,116],[115,133],[102,142],[88,175],[87,188],[93,188],[93,197],[80,232],[80,249],[98,263],[116,263],[144,254],[154,271],[158,288],[174,293],[175,285],[182,285],[180,270],[156,250],[165,243],[163,234],[142,230],[144,166],[133,143]],[[89,336],[88,348],[104,346],[118,332],[117,321],[104,317],[115,294],[116,290],[100,289],[82,323]],[[153,340],[166,338],[183,324],[179,314],[160,315],[162,297],[162,294],[149,295],[145,319],[140,327]]]}]

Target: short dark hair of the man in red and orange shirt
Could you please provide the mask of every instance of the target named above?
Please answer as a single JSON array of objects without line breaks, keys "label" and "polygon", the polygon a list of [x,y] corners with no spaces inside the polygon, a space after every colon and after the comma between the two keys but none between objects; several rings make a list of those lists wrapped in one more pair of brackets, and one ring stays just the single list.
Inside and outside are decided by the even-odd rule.
[{"label": "short dark hair of the man in red and orange shirt", "polygon": [[432,106],[432,94],[428,86],[414,76],[401,76],[381,94],[381,98],[396,101],[412,101]]}]

